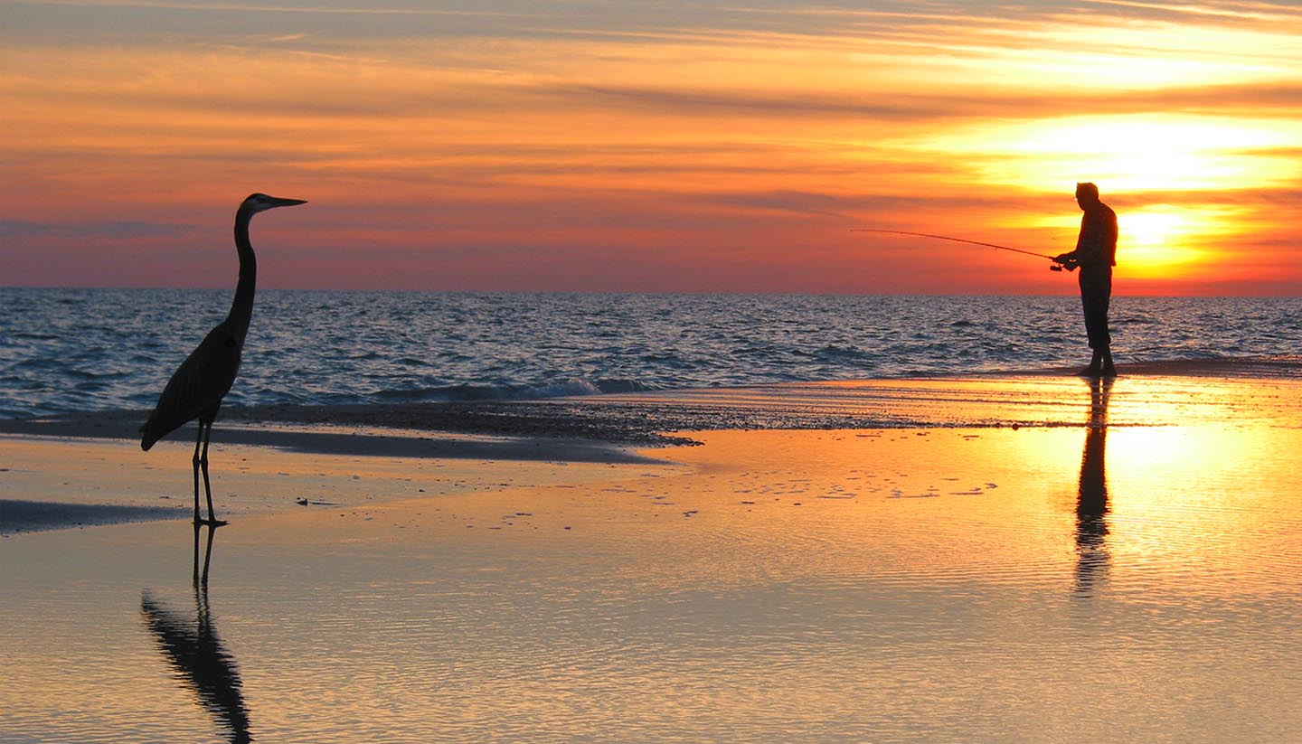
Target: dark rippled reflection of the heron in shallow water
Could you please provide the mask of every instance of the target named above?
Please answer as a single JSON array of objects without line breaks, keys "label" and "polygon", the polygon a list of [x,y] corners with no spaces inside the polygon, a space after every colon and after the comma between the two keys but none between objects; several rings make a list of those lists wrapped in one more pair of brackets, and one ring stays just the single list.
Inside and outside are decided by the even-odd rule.
[{"label": "dark rippled reflection of the heron in shallow water", "polygon": [[[207,549],[199,570],[199,529],[206,528]],[[212,714],[229,741],[253,741],[249,735],[249,711],[240,689],[240,670],[234,658],[217,637],[208,611],[208,565],[212,558],[212,525],[194,525],[194,617],[174,613],[146,591],[141,596],[141,613],[185,687],[198,696],[199,705]]]}]

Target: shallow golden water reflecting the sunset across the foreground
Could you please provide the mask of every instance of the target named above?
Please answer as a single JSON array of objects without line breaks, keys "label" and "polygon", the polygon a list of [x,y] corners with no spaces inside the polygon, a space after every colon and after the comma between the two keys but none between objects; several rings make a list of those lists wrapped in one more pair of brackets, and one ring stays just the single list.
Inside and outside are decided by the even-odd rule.
[{"label": "shallow golden water reflecting the sunset across the foreground", "polygon": [[3,538],[0,731],[1293,739],[1302,431],[1074,390],[1077,428],[715,432],[687,467],[249,516],[206,591],[186,524]]}]

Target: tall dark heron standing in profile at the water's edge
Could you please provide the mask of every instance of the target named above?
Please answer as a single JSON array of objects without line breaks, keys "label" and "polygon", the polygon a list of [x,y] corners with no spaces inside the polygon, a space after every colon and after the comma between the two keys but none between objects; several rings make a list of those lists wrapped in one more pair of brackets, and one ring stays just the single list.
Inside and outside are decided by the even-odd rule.
[{"label": "tall dark heron standing in profile at the water's edge", "polygon": [[[225,524],[212,514],[212,485],[208,481],[208,440],[212,421],[221,408],[221,399],[240,373],[240,356],[245,336],[253,320],[253,295],[258,284],[258,258],[249,243],[249,221],[258,212],[276,207],[305,204],[303,199],[280,199],[266,194],[250,194],[236,211],[236,250],[240,254],[240,282],[230,312],[208,332],[199,346],[176,368],[167,388],[159,395],[150,419],[141,427],[141,449],[148,451],[154,442],[185,423],[198,419],[199,432],[194,440],[194,523],[217,527]],[[199,472],[203,472],[203,492],[208,499],[208,518],[199,519]]]}]

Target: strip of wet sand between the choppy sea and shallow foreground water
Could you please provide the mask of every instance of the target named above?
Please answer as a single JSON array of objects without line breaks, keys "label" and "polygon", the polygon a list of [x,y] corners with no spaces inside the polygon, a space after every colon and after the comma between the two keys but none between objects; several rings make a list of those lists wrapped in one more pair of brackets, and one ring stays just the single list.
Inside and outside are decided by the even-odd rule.
[{"label": "strip of wet sand between the choppy sea and shallow foreground water", "polygon": [[[309,458],[336,471],[340,463],[361,470],[362,460],[402,463],[401,468],[448,467],[467,473],[467,481],[492,489],[506,472],[525,483],[539,467],[664,466],[681,460],[685,445],[699,445],[711,432],[935,432],[1029,429],[1090,429],[1105,427],[1295,427],[1302,420],[1302,380],[1260,375],[1148,375],[1125,367],[1116,380],[1091,381],[1072,375],[1004,375],[937,379],[874,379],[840,382],[792,382],[746,388],[716,388],[628,393],[544,401],[349,406],[233,406],[223,411],[214,462],[216,479],[229,479],[215,490],[241,484],[232,460],[276,460],[263,475],[288,466],[286,458]],[[1100,419],[1101,411],[1101,419]],[[187,518],[189,507],[139,503],[141,494],[176,492],[190,499],[190,455],[195,427],[173,432],[142,453],[135,445],[142,411],[68,414],[44,419],[0,420],[0,441],[12,442],[0,467],[0,535],[124,520]],[[224,425],[223,425],[224,423]],[[708,438],[708,437],[706,437]],[[130,444],[128,444],[130,442]],[[27,447],[39,464],[25,466]],[[79,449],[78,449],[79,447]],[[98,447],[98,449],[96,449]],[[693,447],[689,447],[693,449]],[[221,451],[227,450],[227,451]],[[663,453],[658,459],[648,453]],[[680,453],[677,457],[673,453]],[[240,455],[243,457],[240,457]],[[220,458],[220,459],[219,459]],[[87,479],[77,490],[56,484],[108,459],[120,468],[102,503],[87,503],[89,493],[104,490],[100,479]],[[687,458],[689,460],[693,458]],[[504,467],[503,463],[512,463]],[[20,477],[20,472],[44,476]],[[246,470],[251,466],[237,466]],[[293,468],[289,468],[293,470]],[[155,471],[155,472],[147,472]],[[163,472],[158,472],[163,471]],[[281,475],[284,475],[281,472]],[[326,493],[341,488],[318,473]],[[578,473],[569,473],[577,476]],[[147,479],[154,477],[156,481]],[[353,475],[355,479],[357,476]],[[397,479],[402,480],[402,479]],[[410,479],[405,479],[410,480]],[[582,481],[582,479],[579,479]],[[277,486],[279,488],[279,486]],[[271,483],[266,490],[272,492]],[[182,493],[184,492],[184,493]],[[426,492],[421,492],[422,494]],[[59,498],[72,494],[81,503]],[[415,494],[410,494],[415,497]],[[333,501],[309,494],[310,503]],[[370,498],[370,497],[366,497]],[[134,503],[122,503],[122,501]],[[275,509],[288,509],[289,501]],[[266,505],[263,505],[266,506]]]}]

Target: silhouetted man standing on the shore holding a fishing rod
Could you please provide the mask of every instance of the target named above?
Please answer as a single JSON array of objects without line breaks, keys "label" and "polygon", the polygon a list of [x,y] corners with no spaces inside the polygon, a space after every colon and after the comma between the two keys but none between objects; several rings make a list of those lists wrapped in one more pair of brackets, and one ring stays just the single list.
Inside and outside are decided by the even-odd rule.
[{"label": "silhouetted man standing on the shore holding a fishing rod", "polygon": [[1075,250],[1055,256],[1068,271],[1081,269],[1081,308],[1085,332],[1094,358],[1081,371],[1086,377],[1113,377],[1112,337],[1108,334],[1108,300],[1112,298],[1112,267],[1117,265],[1117,213],[1099,200],[1094,183],[1075,185],[1075,203],[1081,216],[1081,234]]}]

